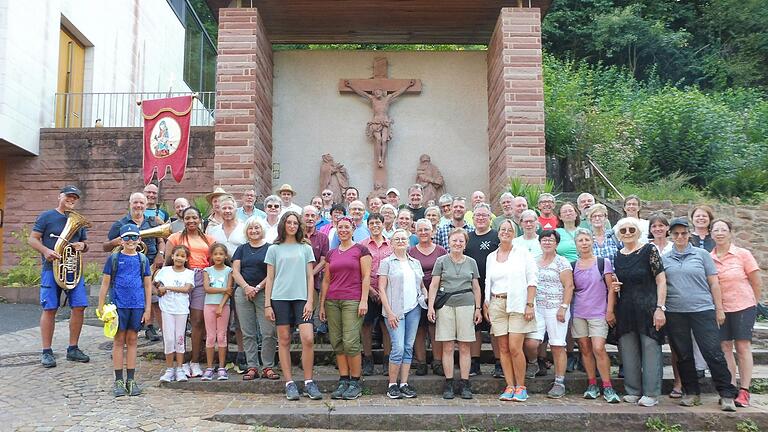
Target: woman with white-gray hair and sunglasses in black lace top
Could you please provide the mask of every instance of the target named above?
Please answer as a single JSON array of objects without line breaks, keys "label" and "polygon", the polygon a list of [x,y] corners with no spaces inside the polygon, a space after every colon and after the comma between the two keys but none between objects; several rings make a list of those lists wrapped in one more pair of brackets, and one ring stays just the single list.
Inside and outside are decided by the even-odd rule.
[{"label": "woman with white-gray hair and sunglasses in black lace top", "polygon": [[614,230],[624,244],[614,260],[612,288],[620,294],[611,311],[624,363],[624,402],[650,407],[658,404],[664,367],[665,266],[656,246],[640,243],[642,227],[637,219],[621,219]]}]

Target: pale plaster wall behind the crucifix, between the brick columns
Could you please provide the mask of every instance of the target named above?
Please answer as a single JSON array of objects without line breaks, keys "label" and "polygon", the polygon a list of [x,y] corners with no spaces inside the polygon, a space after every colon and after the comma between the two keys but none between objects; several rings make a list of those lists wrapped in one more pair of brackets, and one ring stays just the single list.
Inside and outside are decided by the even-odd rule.
[{"label": "pale plaster wall behind the crucifix, between the brick columns", "polygon": [[340,94],[341,78],[370,78],[373,60],[386,56],[390,78],[422,80],[419,95],[390,107],[395,120],[388,147],[389,184],[401,192],[416,179],[419,156],[428,153],[446,189],[469,195],[488,189],[488,106],[484,51],[365,52],[278,51],[274,55],[273,162],[304,204],[318,192],[321,156],[346,166],[362,196],[373,188],[373,143],[365,136],[370,104]]}]

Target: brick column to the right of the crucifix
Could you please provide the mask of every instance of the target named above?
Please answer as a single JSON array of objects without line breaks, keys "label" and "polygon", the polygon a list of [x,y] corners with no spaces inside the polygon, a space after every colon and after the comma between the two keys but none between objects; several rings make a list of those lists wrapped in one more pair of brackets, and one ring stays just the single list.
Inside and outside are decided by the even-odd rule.
[{"label": "brick column to the right of the crucifix", "polygon": [[496,22],[488,45],[488,145],[494,202],[510,178],[544,182],[544,82],[537,8],[502,8]]}]

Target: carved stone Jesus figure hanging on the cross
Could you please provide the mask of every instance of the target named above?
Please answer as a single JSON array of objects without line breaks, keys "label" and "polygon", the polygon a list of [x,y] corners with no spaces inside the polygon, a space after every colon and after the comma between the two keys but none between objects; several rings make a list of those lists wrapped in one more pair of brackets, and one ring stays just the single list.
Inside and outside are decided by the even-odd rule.
[{"label": "carved stone Jesus figure hanging on the cross", "polygon": [[387,94],[385,90],[374,89],[368,93],[354,86],[349,80],[344,81],[344,85],[352,89],[358,95],[368,99],[373,107],[373,120],[368,122],[365,134],[373,139],[376,149],[376,157],[379,168],[384,168],[384,162],[387,158],[387,143],[392,139],[392,125],[394,120],[389,118],[389,105],[398,96],[416,84],[415,80],[410,80],[399,90]]}]

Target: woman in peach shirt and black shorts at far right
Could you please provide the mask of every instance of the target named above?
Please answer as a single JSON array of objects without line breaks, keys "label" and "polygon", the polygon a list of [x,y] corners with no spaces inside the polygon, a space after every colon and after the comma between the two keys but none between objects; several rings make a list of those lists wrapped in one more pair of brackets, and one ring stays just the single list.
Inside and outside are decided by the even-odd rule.
[{"label": "woman in peach shirt and black shorts at far right", "polygon": [[717,267],[717,279],[723,296],[725,323],[720,326],[720,345],[736,385],[736,356],[739,359],[739,394],[736,406],[749,406],[749,385],[752,381],[752,327],[757,315],[757,299],[760,298],[760,267],[752,254],[733,244],[730,222],[717,219],[710,232],[715,248],[710,253]]}]

